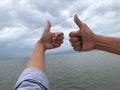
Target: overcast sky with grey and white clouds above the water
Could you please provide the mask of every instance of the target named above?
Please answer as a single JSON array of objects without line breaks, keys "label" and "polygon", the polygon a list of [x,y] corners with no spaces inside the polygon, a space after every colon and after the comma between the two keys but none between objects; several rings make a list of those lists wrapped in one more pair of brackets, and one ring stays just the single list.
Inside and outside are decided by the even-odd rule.
[{"label": "overcast sky with grey and white clouds above the water", "polygon": [[47,54],[73,52],[68,34],[78,30],[75,13],[94,33],[120,37],[119,0],[0,0],[0,58],[29,57],[47,19],[65,37]]}]

